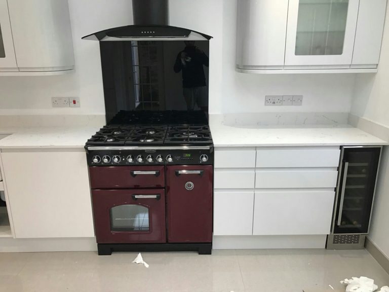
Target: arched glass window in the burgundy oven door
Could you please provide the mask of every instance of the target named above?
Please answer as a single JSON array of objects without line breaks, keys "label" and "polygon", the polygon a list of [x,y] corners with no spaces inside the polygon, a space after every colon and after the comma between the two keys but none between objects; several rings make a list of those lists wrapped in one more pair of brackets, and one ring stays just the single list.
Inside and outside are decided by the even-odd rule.
[{"label": "arched glass window in the burgundy oven door", "polygon": [[109,210],[111,231],[149,231],[148,208],[119,205]]}]

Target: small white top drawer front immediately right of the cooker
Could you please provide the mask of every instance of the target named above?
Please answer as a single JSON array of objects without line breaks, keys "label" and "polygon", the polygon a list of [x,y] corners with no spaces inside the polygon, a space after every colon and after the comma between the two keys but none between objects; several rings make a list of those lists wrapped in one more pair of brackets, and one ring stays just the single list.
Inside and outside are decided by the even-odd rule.
[{"label": "small white top drawer front immediately right of the cooker", "polygon": [[255,148],[249,150],[215,149],[215,168],[255,167]]}]

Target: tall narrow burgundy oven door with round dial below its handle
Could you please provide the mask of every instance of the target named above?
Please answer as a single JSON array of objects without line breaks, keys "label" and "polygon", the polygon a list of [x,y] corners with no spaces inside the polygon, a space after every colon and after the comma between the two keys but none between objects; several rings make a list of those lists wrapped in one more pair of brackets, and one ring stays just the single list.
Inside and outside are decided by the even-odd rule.
[{"label": "tall narrow burgundy oven door with round dial below its handle", "polygon": [[169,242],[212,242],[212,165],[166,167]]}]

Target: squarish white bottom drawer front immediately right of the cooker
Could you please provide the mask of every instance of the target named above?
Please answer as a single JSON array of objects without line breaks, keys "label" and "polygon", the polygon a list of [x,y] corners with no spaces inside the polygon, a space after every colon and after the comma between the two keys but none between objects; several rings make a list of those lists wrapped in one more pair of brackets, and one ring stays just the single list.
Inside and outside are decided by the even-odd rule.
[{"label": "squarish white bottom drawer front immediately right of the cooker", "polygon": [[254,192],[215,192],[214,235],[252,235]]}]

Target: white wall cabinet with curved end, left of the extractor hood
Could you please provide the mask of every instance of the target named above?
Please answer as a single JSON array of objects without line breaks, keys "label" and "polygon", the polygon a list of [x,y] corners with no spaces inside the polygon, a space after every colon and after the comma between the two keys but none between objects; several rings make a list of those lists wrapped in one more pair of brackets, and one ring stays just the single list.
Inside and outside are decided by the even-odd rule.
[{"label": "white wall cabinet with curved end, left of the extractor hood", "polygon": [[0,30],[2,75],[74,68],[67,0],[0,0]]}]

